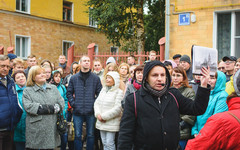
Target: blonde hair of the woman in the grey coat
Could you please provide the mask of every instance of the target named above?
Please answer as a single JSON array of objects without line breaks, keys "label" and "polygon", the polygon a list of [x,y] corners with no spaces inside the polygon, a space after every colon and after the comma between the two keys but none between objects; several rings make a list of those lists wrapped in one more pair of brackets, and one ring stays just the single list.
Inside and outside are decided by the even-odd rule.
[{"label": "blonde hair of the woman in the grey coat", "polygon": [[44,71],[44,68],[40,66],[32,66],[29,70],[27,77],[27,86],[34,86],[36,83],[34,81],[36,75],[40,74],[41,71]]}]

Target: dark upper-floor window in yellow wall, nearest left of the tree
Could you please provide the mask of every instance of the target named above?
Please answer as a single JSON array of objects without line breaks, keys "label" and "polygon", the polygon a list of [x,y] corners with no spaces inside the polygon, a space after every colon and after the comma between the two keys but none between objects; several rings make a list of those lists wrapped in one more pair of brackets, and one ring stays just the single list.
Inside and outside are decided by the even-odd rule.
[{"label": "dark upper-floor window in yellow wall, nearest left of the tree", "polygon": [[63,1],[63,21],[72,22],[72,3]]}]

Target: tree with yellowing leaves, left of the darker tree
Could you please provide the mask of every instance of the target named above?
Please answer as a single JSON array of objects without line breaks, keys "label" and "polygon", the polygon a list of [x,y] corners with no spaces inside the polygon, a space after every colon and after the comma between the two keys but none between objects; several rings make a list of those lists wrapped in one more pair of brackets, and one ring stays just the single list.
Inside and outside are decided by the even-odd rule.
[{"label": "tree with yellowing leaves, left of the darker tree", "polygon": [[[143,0],[89,0],[90,13],[98,31],[105,33],[116,46],[144,51]],[[123,43],[123,44],[122,44]],[[126,48],[126,47],[125,47]],[[135,50],[136,51],[136,50]]]}]

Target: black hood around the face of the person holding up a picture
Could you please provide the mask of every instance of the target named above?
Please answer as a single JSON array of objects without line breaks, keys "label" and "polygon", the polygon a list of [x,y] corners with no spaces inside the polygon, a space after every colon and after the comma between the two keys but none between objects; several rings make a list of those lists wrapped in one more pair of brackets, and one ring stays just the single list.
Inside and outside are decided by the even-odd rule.
[{"label": "black hood around the face of the person holding up a picture", "polygon": [[170,73],[168,71],[168,69],[164,66],[164,64],[158,60],[155,60],[155,61],[151,61],[151,62],[148,62],[146,63],[146,65],[144,66],[144,69],[143,69],[143,80],[142,80],[142,85],[144,86],[144,84],[147,82],[146,79],[148,77],[148,74],[149,72],[152,70],[153,67],[155,66],[161,66],[165,69],[166,71],[166,87],[167,87],[167,90],[169,89],[170,87],[170,84],[171,84],[171,77],[170,77]]}]

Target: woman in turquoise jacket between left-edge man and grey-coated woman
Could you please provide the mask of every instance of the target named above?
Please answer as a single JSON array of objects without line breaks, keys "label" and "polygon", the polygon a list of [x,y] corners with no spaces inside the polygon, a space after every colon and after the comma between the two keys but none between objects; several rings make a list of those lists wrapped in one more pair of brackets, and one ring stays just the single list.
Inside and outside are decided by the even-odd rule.
[{"label": "woman in turquoise jacket between left-edge man and grey-coated woman", "polygon": [[23,109],[22,104],[22,95],[23,90],[26,88],[26,75],[23,71],[16,71],[12,75],[15,83],[16,83],[16,91],[18,95],[18,102],[20,103],[23,113],[20,121],[18,122],[16,128],[14,129],[14,144],[16,147],[16,150],[25,150],[25,128],[26,128],[26,111]]}]

